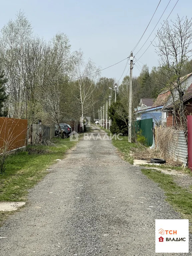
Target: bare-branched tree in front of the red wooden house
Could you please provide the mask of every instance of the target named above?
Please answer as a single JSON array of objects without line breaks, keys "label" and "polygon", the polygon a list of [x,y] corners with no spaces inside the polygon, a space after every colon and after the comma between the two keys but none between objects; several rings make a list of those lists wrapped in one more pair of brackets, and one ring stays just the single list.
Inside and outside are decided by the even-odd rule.
[{"label": "bare-branched tree in front of the red wooden house", "polygon": [[187,17],[179,18],[171,24],[167,21],[163,29],[158,31],[159,43],[157,53],[161,57],[160,67],[167,77],[167,88],[171,92],[174,112],[178,113],[176,124],[186,130],[185,108],[183,95],[187,88],[182,86],[181,74],[183,66],[186,65],[189,55],[192,52],[192,20]]}]

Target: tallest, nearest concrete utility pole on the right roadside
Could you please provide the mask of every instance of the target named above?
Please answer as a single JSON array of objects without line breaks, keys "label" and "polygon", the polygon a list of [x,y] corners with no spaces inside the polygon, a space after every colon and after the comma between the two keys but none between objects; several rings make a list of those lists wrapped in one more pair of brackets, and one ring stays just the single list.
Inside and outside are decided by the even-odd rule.
[{"label": "tallest, nearest concrete utility pole on the right roadside", "polygon": [[133,72],[133,53],[130,56],[130,85],[129,85],[129,137],[128,141],[131,143],[131,118],[132,118],[132,72]]}]

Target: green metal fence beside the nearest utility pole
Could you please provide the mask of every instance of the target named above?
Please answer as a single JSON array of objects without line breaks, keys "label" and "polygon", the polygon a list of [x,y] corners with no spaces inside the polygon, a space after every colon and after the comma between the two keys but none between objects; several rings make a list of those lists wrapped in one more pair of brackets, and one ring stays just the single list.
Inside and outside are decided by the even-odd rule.
[{"label": "green metal fence beside the nearest utility pole", "polygon": [[142,135],[146,138],[147,146],[153,144],[153,118],[138,120],[135,122],[135,131],[142,131]]}]

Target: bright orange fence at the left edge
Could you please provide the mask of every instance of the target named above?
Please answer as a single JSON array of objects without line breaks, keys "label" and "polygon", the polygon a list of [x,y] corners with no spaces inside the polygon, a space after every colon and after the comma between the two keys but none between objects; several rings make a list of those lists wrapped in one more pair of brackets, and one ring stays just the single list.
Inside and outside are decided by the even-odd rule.
[{"label": "bright orange fence at the left edge", "polygon": [[0,151],[10,151],[26,145],[27,120],[0,117]]}]

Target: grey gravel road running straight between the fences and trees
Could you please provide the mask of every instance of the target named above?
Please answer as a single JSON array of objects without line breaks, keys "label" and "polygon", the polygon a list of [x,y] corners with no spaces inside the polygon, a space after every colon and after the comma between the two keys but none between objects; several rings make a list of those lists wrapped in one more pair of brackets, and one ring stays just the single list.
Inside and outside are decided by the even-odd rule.
[{"label": "grey gravel road running straight between the fences and trees", "polygon": [[[111,141],[94,140],[105,132],[93,129],[0,228],[1,256],[155,255],[155,219],[180,216]],[[191,245],[189,254],[168,255],[192,255]]]}]

